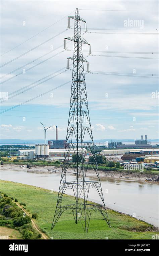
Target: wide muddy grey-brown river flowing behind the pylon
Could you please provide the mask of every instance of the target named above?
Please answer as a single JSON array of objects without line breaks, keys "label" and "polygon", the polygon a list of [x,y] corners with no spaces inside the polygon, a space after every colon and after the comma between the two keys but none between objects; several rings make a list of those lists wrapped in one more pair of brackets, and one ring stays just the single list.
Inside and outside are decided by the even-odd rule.
[{"label": "wide muddy grey-brown river flowing behind the pylon", "polygon": [[[27,170],[0,170],[0,179],[27,185],[33,185],[58,191],[61,174],[59,172],[38,173]],[[67,181],[75,180],[73,174],[67,174]],[[87,180],[96,180],[88,177]],[[113,178],[101,178],[105,205],[113,210],[129,214],[137,219],[159,227],[158,184],[141,181],[125,181]],[[73,191],[68,190],[72,195]],[[100,203],[97,192],[90,189],[89,200]]]}]

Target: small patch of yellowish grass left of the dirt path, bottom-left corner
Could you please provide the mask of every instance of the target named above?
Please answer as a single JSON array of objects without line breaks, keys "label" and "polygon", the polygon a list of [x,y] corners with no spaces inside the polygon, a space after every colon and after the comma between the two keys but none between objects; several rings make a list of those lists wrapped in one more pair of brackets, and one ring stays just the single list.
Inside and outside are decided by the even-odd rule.
[{"label": "small patch of yellowish grass left of the dirt path, bottom-left corner", "polygon": [[22,235],[18,230],[7,227],[0,227],[0,236],[8,236],[5,239],[22,239]]}]

